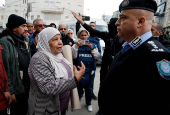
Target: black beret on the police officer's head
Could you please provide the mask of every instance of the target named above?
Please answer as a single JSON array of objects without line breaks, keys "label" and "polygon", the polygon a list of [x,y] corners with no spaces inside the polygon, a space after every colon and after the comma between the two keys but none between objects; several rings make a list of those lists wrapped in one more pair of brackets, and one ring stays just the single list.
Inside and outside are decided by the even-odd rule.
[{"label": "black beret on the police officer's head", "polygon": [[157,3],[155,0],[123,0],[119,6],[119,12],[126,9],[143,9],[155,13]]}]

